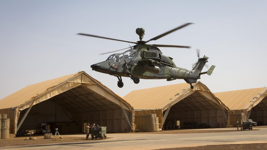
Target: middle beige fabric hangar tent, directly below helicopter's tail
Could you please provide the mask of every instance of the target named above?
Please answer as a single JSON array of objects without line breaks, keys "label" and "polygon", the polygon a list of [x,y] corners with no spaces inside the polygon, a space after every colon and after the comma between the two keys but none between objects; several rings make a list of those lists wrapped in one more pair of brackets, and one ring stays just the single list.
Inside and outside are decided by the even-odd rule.
[{"label": "middle beige fabric hangar tent, directly below helicopter's tail", "polygon": [[216,98],[201,82],[190,89],[187,83],[135,90],[124,97],[135,110],[162,110],[161,125],[175,125],[176,121],[197,121],[217,127],[227,125],[228,107]]}]

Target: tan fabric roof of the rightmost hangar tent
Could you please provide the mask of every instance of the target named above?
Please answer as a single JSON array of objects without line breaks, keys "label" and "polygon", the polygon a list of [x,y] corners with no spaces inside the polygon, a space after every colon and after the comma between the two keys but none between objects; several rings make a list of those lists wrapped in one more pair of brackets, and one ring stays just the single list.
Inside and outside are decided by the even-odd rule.
[{"label": "tan fabric roof of the rightmost hangar tent", "polygon": [[[248,105],[253,105],[258,99],[262,100],[262,94],[267,92],[267,88],[250,88],[235,91],[217,92],[214,95],[219,98],[229,109],[247,109]],[[264,98],[264,97],[263,97]],[[256,103],[258,104],[258,103]]]}]

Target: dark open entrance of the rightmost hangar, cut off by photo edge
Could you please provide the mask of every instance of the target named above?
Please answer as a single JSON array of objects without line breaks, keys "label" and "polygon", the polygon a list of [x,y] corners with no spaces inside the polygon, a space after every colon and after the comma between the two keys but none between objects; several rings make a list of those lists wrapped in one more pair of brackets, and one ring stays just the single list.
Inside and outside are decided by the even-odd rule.
[{"label": "dark open entrance of the rightmost hangar, cut off by photo edge", "polygon": [[249,119],[258,125],[267,125],[267,96],[251,109]]}]

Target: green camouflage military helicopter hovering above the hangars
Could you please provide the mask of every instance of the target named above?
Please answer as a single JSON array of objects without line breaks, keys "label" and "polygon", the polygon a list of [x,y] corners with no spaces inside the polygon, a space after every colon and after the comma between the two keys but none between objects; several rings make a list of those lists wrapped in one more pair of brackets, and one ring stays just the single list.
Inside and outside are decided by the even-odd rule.
[{"label": "green camouflage military helicopter hovering above the hangars", "polygon": [[[196,83],[197,79],[200,79],[200,75],[211,75],[212,71],[215,68],[215,66],[212,65],[208,69],[208,71],[201,72],[205,63],[208,62],[207,56],[204,55],[202,58],[198,58],[198,61],[192,67],[193,69],[187,70],[185,68],[177,67],[173,62],[173,58],[163,55],[158,47],[190,48],[190,46],[146,44],[150,41],[154,41],[165,35],[168,35],[178,29],[184,28],[185,26],[188,26],[190,24],[192,23],[186,23],[182,26],[158,35],[148,41],[143,41],[143,36],[145,35],[144,28],[136,29],[136,33],[137,35],[139,35],[140,39],[140,41],[137,42],[123,41],[84,33],[78,33],[78,35],[136,44],[134,46],[128,47],[130,49],[125,48],[128,49],[125,52],[112,54],[107,58],[107,60],[91,65],[92,70],[116,76],[119,80],[117,83],[119,88],[123,87],[122,76],[124,76],[130,77],[135,84],[138,84],[140,82],[140,79],[167,79],[167,81],[184,79],[187,83],[190,84],[190,88],[193,89],[194,87],[192,83]],[[101,55],[107,53],[111,52],[102,53]],[[197,55],[199,57],[199,52]]]}]

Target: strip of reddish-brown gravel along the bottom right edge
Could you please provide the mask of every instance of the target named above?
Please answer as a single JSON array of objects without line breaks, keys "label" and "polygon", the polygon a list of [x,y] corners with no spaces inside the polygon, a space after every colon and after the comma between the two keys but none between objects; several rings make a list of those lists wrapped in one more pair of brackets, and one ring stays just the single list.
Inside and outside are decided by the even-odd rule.
[{"label": "strip of reddish-brown gravel along the bottom right edge", "polygon": [[228,145],[207,145],[207,146],[196,146],[196,147],[179,147],[171,149],[160,149],[160,150],[263,150],[267,149],[267,143],[256,143],[256,144],[228,144]]}]

